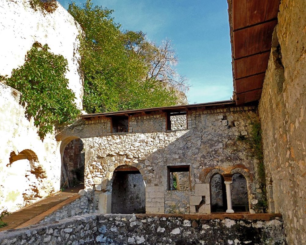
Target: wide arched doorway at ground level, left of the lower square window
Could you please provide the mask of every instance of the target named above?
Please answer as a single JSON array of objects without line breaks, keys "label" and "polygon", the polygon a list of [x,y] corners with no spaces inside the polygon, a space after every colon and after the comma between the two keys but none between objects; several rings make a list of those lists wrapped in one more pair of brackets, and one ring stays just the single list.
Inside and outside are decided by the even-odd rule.
[{"label": "wide arched doorway at ground level, left of the lower square window", "polygon": [[112,213],[145,213],[146,187],[137,168],[121,165],[115,169],[112,184]]}]

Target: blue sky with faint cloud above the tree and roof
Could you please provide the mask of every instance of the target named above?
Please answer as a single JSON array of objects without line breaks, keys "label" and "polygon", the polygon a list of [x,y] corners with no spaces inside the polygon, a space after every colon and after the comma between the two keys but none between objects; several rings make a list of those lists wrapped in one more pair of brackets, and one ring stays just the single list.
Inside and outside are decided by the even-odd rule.
[{"label": "blue sky with faint cloud above the tree and roof", "polygon": [[[86,0],[76,0],[82,4]],[[59,0],[67,9],[71,1]],[[122,30],[143,31],[161,42],[172,40],[177,71],[192,85],[190,104],[228,100],[233,95],[231,47],[226,0],[92,0],[114,9]]]}]

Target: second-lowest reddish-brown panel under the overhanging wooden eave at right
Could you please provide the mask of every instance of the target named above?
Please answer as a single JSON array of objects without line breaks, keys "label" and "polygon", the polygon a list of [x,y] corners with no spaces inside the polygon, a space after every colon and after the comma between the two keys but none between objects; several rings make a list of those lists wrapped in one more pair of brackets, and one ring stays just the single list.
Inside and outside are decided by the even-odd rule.
[{"label": "second-lowest reddish-brown panel under the overhanging wooden eave at right", "polygon": [[265,72],[254,76],[236,79],[236,93],[247,92],[254,89],[260,89],[263,87],[263,80],[265,78]]}]

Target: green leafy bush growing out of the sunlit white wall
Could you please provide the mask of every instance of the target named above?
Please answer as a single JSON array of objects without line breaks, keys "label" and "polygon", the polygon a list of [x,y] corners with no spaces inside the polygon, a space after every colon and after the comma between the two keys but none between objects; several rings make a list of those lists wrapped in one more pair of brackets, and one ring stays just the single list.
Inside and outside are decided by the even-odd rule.
[{"label": "green leafy bush growing out of the sunlit white wall", "polygon": [[26,102],[26,116],[34,118],[38,134],[43,139],[55,124],[75,119],[80,111],[74,103],[75,95],[68,89],[68,61],[62,55],[50,53],[47,44],[34,43],[25,57],[25,63],[13,69],[6,84],[22,93]]}]

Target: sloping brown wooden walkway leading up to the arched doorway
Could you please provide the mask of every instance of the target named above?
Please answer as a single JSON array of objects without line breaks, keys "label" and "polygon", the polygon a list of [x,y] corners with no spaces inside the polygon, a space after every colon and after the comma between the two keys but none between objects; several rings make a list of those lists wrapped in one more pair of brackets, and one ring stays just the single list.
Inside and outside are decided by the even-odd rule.
[{"label": "sloping brown wooden walkway leading up to the arched doorway", "polygon": [[43,220],[44,217],[60,209],[65,204],[80,198],[80,195],[77,194],[79,189],[80,187],[69,188],[63,192],[55,194],[54,196],[47,197],[19,209],[18,211],[11,213],[9,216],[3,217],[3,222],[6,222],[8,225],[0,228],[0,232],[38,223],[40,220]]}]

